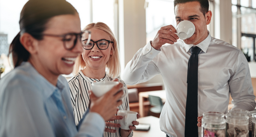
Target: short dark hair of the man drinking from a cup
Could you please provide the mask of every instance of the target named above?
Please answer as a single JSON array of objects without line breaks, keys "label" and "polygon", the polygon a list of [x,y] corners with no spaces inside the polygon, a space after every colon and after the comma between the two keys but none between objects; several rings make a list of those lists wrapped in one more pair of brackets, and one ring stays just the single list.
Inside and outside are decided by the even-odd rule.
[{"label": "short dark hair of the man drinking from a cup", "polygon": [[174,8],[177,4],[179,3],[186,3],[186,2],[193,2],[193,1],[198,1],[201,5],[200,11],[205,14],[209,11],[209,1],[208,0],[174,0]]}]

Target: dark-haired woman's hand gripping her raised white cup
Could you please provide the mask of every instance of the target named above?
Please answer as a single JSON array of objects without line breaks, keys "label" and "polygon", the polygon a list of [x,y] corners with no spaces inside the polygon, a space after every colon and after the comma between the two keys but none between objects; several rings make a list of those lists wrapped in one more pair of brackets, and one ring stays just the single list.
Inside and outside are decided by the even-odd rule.
[{"label": "dark-haired woman's hand gripping her raised white cup", "polygon": [[101,97],[96,97],[92,91],[89,91],[91,98],[90,112],[100,114],[105,121],[111,119],[117,113],[117,107],[122,104],[120,97],[124,92],[118,92],[121,87],[123,87],[123,84],[119,83]]}]

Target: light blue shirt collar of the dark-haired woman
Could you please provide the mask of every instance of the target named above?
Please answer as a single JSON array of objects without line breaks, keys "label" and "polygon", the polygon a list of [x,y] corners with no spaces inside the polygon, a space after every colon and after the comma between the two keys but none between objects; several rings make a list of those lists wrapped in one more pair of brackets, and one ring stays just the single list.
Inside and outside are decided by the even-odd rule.
[{"label": "light blue shirt collar of the dark-haired woman", "polygon": [[46,98],[49,98],[55,90],[62,91],[64,89],[65,86],[60,80],[60,76],[58,77],[57,85],[54,86],[45,77],[43,77],[29,62],[22,62],[21,65],[26,66],[27,70],[30,72],[33,78],[38,79],[38,82],[40,82],[39,84],[42,87],[41,90],[43,95]]}]

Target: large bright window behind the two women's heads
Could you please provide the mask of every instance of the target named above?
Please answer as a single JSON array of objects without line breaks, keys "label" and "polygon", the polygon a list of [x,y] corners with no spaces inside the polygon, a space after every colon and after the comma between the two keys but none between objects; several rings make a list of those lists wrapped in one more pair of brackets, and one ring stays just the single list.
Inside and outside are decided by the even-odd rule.
[{"label": "large bright window behind the two women's heads", "polygon": [[[28,0],[0,0],[0,65],[4,64],[5,72],[10,71],[7,59],[9,44],[19,32],[20,11]],[[78,11],[81,29],[90,22],[104,22],[115,33],[114,1],[115,0],[67,0]],[[91,4],[92,2],[92,4]],[[15,3],[15,4],[13,4]],[[92,11],[92,12],[91,12]],[[3,61],[4,60],[4,61]],[[7,63],[6,63],[7,62]]]}]

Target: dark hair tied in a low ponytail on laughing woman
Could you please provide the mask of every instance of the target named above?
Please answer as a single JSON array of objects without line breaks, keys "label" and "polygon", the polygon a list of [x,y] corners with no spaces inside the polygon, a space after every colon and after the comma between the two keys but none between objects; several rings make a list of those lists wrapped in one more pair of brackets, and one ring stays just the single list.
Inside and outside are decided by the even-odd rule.
[{"label": "dark hair tied in a low ponytail on laughing woman", "polygon": [[14,68],[22,62],[26,62],[30,57],[30,53],[19,41],[23,33],[29,33],[35,39],[42,40],[41,34],[52,17],[76,13],[77,10],[66,0],[28,0],[20,12],[20,32],[12,40],[9,47]]}]

